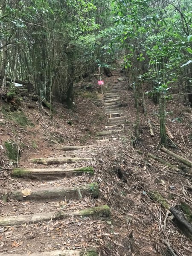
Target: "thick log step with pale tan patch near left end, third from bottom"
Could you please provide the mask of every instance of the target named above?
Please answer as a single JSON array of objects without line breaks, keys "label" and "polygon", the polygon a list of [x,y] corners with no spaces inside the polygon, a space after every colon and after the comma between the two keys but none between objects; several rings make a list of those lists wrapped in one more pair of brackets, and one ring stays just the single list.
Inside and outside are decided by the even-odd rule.
[{"label": "thick log step with pale tan patch near left end, third from bottom", "polygon": [[17,201],[29,201],[29,200],[75,200],[86,196],[98,198],[99,187],[97,183],[90,183],[84,186],[74,187],[51,187],[51,188],[31,188],[24,190],[16,190],[9,192],[9,198]]}]

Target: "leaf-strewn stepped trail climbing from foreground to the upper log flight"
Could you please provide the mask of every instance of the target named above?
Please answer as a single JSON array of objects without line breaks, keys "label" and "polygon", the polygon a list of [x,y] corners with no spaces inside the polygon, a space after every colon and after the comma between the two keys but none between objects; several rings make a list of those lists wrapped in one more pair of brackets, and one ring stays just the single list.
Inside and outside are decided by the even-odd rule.
[{"label": "leaf-strewn stepped trail climbing from foreground to the upper log flight", "polygon": [[[124,79],[122,76],[119,80]],[[11,243],[13,250],[4,248],[6,256],[99,255],[94,248],[93,234],[110,221],[111,209],[99,199],[94,151],[108,140],[106,136],[123,131],[126,120],[119,108],[122,84],[119,80],[105,92],[108,123],[105,131],[97,134],[102,140],[96,137],[93,145],[62,146],[54,152],[54,157],[29,159],[26,168],[12,170],[17,189],[8,189],[3,198],[14,202],[15,215],[9,215],[9,207],[4,207],[0,218],[0,226],[12,229],[6,244]],[[47,230],[49,233],[44,232]],[[24,238],[23,234],[26,234]],[[28,248],[26,252],[20,249],[22,244]],[[55,250],[61,244],[65,247]],[[73,250],[65,249],[71,246]]]}]

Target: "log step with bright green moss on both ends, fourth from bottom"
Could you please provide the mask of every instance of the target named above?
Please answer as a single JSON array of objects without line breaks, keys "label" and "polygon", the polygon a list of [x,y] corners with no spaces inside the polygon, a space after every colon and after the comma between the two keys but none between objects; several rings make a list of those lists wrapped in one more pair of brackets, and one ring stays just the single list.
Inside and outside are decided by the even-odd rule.
[{"label": "log step with bright green moss on both ends, fourth from bottom", "polygon": [[91,166],[81,168],[50,168],[50,169],[22,169],[17,168],[12,170],[13,177],[29,177],[29,178],[55,178],[55,177],[71,177],[82,174],[94,175],[94,169]]}]

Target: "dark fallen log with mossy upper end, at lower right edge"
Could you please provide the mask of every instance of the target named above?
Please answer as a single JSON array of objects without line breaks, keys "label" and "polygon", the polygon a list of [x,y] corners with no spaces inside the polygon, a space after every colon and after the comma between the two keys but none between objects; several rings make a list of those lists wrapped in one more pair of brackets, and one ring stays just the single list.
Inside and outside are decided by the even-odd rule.
[{"label": "dark fallen log with mossy upper end, at lower right edge", "polygon": [[185,234],[185,236],[192,240],[192,225],[186,220],[186,218],[189,218],[190,221],[190,216],[186,215],[185,218],[185,215],[174,207],[171,207],[170,204],[166,201],[165,198],[163,198],[162,195],[160,195],[159,192],[148,192],[148,195],[153,201],[160,203],[164,209],[169,210],[169,212],[172,213],[172,215],[175,217],[174,223],[183,232],[183,234]]}]

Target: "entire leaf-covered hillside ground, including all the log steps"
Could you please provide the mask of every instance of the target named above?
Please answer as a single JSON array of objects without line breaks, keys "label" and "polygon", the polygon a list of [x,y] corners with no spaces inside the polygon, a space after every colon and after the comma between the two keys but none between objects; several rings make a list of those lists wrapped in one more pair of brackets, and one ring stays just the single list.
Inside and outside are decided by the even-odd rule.
[{"label": "entire leaf-covered hillside ground, including all the log steps", "polygon": [[164,148],[151,98],[136,139],[129,77],[104,81],[52,116],[20,89],[0,101],[1,255],[192,254],[192,108],[167,102]]}]

